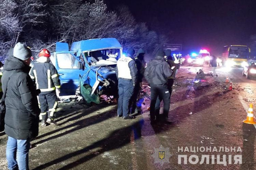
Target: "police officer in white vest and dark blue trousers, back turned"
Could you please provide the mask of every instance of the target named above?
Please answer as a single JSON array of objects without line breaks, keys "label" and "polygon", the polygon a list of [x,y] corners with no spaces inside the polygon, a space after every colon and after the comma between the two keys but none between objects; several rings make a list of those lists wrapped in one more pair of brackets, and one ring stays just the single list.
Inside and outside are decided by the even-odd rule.
[{"label": "police officer in white vest and dark blue trousers, back turned", "polygon": [[137,83],[137,68],[134,61],[135,51],[132,48],[127,49],[126,56],[117,61],[116,74],[118,77],[118,104],[117,117],[124,119],[134,119],[129,116],[129,103]]}]

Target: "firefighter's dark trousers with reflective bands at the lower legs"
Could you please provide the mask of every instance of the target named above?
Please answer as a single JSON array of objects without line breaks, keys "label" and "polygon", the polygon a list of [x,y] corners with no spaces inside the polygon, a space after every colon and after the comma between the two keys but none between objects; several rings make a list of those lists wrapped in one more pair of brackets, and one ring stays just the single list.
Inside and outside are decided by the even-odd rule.
[{"label": "firefighter's dark trousers with reflective bands at the lower legs", "polygon": [[[39,115],[40,120],[46,120],[48,118],[53,118],[53,114],[56,112],[58,102],[57,102],[57,95],[55,90],[51,92],[43,92],[42,94],[38,95],[39,104],[41,113]],[[49,109],[47,109],[49,107]],[[48,114],[47,114],[48,110]]]}]

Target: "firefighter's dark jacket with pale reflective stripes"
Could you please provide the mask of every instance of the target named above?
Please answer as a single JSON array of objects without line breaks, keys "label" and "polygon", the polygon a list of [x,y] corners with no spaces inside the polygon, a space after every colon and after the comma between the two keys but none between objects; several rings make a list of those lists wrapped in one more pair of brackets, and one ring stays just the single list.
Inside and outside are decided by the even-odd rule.
[{"label": "firefighter's dark jacket with pale reflective stripes", "polygon": [[61,88],[58,72],[49,62],[35,63],[30,71],[30,77],[35,80],[36,88],[41,90],[41,94]]}]

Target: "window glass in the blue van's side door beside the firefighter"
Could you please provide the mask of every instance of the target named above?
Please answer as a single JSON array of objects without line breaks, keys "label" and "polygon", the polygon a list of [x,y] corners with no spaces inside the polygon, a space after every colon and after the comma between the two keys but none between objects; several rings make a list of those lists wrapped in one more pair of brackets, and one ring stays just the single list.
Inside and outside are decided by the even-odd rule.
[{"label": "window glass in the blue van's side door beside the firefighter", "polygon": [[78,69],[78,60],[70,53],[57,54],[57,62],[60,69]]}]

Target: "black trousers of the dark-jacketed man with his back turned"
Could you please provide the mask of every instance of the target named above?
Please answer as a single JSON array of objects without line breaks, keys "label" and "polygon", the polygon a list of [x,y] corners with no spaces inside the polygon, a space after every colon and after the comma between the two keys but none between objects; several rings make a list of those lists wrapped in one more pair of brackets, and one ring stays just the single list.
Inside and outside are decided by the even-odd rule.
[{"label": "black trousers of the dark-jacketed man with his back turned", "polygon": [[[169,109],[170,109],[170,92],[167,88],[167,85],[163,86],[153,86],[151,85],[151,102],[150,102],[150,119],[158,120],[159,119],[159,111],[155,109],[157,98],[160,101],[163,101],[163,115],[168,117]],[[159,102],[160,106],[160,102]]]}]

